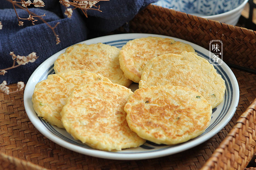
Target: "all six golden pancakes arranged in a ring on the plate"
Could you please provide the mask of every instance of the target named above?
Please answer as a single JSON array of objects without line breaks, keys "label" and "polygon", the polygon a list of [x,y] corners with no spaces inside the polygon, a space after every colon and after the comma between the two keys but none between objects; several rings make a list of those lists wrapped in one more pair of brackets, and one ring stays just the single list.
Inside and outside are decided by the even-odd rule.
[{"label": "all six golden pancakes arranged in a ring on the plate", "polygon": [[[225,82],[207,60],[169,38],[131,40],[119,50],[68,47],[56,74],[37,83],[37,115],[99,150],[138,147],[146,140],[177,144],[202,134]],[[133,93],[129,85],[139,83]]]}]

